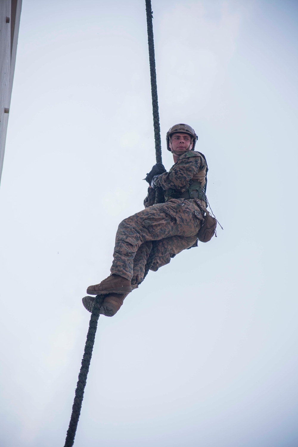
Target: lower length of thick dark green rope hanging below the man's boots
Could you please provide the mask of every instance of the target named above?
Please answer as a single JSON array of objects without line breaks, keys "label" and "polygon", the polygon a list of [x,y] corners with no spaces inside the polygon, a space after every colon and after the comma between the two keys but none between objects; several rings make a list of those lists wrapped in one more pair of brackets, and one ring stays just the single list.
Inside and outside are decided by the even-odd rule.
[{"label": "lower length of thick dark green rope hanging below the man's boots", "polygon": [[105,295],[96,295],[94,300],[94,305],[92,309],[92,314],[89,323],[89,329],[87,334],[87,340],[85,343],[84,355],[82,359],[82,366],[80,369],[79,380],[76,384],[75,398],[72,405],[71,418],[69,422],[69,427],[67,430],[67,435],[65,439],[64,447],[72,447],[75,441],[76,428],[78,426],[83,397],[84,389],[86,386],[87,375],[89,371],[90,361],[92,357],[92,350],[94,346],[95,334],[97,330],[97,321],[99,318],[99,312],[101,310],[102,302]]}]

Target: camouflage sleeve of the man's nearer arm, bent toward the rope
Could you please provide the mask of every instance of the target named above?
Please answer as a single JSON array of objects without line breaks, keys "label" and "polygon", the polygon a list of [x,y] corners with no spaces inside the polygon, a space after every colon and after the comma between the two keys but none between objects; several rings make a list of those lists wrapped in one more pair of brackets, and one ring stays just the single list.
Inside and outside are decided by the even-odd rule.
[{"label": "camouflage sleeve of the man's nearer arm, bent toward the rope", "polygon": [[171,171],[158,176],[156,184],[161,186],[163,190],[179,190],[183,186],[188,185],[189,180],[204,167],[205,161],[197,152],[193,152],[191,156],[183,154],[177,163],[174,164]]}]

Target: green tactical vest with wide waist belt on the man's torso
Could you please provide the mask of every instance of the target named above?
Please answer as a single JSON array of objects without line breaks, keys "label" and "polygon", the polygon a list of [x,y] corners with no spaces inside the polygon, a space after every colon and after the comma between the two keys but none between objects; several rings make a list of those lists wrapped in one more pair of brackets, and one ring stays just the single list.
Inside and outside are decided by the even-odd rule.
[{"label": "green tactical vest with wide waist belt on the man's torso", "polygon": [[[198,151],[196,151],[196,152],[198,152]],[[206,163],[205,168],[202,169],[201,171],[197,172],[193,176],[193,178],[191,180],[189,180],[188,185],[183,186],[183,188],[181,188],[180,190],[169,189],[169,190],[164,191],[165,202],[167,202],[171,198],[197,198],[199,200],[202,200],[206,204],[208,203],[207,198],[206,198],[208,166],[207,166],[205,156],[201,152],[198,152],[198,153],[205,160],[205,163]],[[196,154],[193,153],[192,151],[189,151],[186,153],[186,156],[193,157],[193,156],[196,156]],[[169,170],[169,172],[171,172],[173,170],[173,167]]]}]

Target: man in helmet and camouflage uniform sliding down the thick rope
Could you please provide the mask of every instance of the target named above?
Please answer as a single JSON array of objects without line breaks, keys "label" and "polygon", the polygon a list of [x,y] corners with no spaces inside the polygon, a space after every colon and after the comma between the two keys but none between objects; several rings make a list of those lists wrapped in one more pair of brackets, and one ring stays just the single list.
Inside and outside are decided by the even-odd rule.
[{"label": "man in helmet and camouflage uniform sliding down the thick rope", "polygon": [[[205,156],[194,151],[197,135],[187,124],[176,124],[167,133],[167,148],[175,164],[167,172],[157,163],[147,174],[145,210],[122,220],[116,233],[111,274],[100,284],[89,286],[89,295],[106,295],[101,314],[113,316],[123,299],[142,283],[148,269],[156,271],[184,249],[197,246],[197,235],[205,223]],[[162,188],[163,203],[155,204],[155,190]],[[213,234],[213,233],[212,233]],[[94,299],[83,298],[92,312]]]}]

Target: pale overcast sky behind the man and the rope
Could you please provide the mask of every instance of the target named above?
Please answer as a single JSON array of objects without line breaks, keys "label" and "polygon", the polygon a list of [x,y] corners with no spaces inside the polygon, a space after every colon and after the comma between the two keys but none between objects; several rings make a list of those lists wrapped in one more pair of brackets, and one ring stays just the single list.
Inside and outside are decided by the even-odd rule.
[{"label": "pale overcast sky behind the man and the rope", "polygon": [[[224,231],[100,317],[75,446],[296,447],[298,3],[152,9],[163,162],[168,128],[191,125]],[[0,187],[1,447],[64,445],[81,299],[154,163],[145,1],[23,0]]]}]

